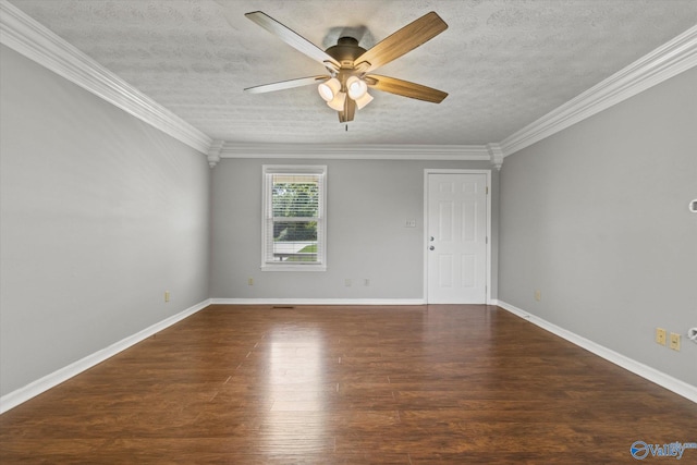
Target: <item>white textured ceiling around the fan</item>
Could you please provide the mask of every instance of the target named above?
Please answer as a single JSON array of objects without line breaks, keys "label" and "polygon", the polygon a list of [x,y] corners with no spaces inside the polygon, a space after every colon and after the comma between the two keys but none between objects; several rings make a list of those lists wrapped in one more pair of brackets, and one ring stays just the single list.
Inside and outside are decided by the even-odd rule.
[{"label": "white textured ceiling around the fan", "polygon": [[[501,142],[697,24],[695,0],[10,0],[213,139],[480,145]],[[449,28],[377,71],[449,93],[440,105],[372,91],[348,131],[315,86],[323,74],[244,13],[318,45],[370,48],[436,11]]]}]

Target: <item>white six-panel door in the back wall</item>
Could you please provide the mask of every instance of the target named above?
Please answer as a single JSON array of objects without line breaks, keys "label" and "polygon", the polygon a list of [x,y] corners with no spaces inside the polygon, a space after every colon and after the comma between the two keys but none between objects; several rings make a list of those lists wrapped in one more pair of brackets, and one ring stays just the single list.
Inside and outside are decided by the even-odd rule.
[{"label": "white six-panel door in the back wall", "polygon": [[427,301],[487,302],[487,174],[427,174]]}]

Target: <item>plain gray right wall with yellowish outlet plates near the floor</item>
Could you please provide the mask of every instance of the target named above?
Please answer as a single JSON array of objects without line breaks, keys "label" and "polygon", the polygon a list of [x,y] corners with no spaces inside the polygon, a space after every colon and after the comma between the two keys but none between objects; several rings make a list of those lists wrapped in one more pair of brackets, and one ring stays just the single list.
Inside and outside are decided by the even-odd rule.
[{"label": "plain gray right wall with yellowish outlet plates near the floor", "polygon": [[[697,69],[508,158],[499,298],[697,386]],[[541,291],[541,301],[534,298]]]}]

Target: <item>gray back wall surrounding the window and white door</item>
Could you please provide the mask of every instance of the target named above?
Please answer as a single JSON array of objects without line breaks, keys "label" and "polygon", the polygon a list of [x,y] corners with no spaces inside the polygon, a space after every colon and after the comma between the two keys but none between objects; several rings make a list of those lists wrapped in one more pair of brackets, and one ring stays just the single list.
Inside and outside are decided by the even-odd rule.
[{"label": "gray back wall surrounding the window and white door", "polygon": [[[327,164],[326,272],[260,271],[261,166],[265,163]],[[491,166],[465,161],[222,160],[212,178],[210,296],[423,298],[426,168],[491,169]],[[494,170],[494,192],[497,182]],[[496,219],[496,204],[492,208]],[[405,228],[407,219],[415,219],[416,228]],[[254,279],[254,285],[247,284],[248,278]],[[351,287],[345,286],[345,279],[352,280]],[[370,280],[369,286],[363,284],[365,279]],[[496,295],[496,283],[493,291]]]}]

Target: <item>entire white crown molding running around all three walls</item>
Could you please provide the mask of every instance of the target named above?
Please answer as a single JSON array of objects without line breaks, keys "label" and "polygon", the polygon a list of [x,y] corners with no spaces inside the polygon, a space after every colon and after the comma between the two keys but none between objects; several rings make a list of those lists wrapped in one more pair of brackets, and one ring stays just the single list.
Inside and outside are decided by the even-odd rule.
[{"label": "entire white crown molding running around all three walls", "polygon": [[0,0],[0,42],[208,157],[382,160],[477,160],[501,168],[503,158],[697,65],[697,26],[635,61],[500,143],[458,146],[244,144],[213,140],[101,66],[7,0]]}]

